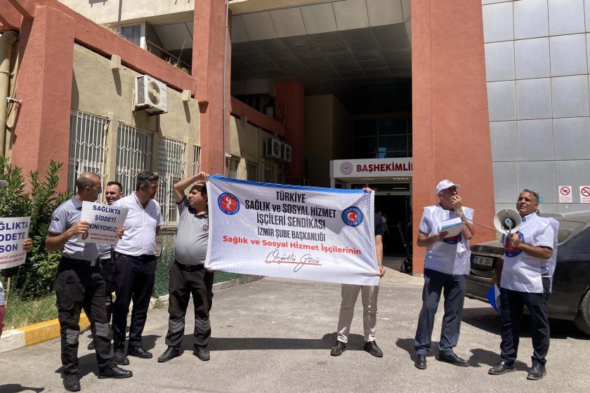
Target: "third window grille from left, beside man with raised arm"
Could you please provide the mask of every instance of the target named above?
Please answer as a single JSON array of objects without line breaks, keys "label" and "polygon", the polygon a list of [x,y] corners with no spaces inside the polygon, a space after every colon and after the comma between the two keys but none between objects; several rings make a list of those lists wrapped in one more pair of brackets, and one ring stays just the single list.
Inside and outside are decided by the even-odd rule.
[{"label": "third window grille from left, beside man with raised arm", "polygon": [[[174,183],[184,178],[185,144],[170,138],[161,138],[158,145],[159,187],[156,196],[162,206],[164,223],[178,222],[178,209],[173,195]],[[194,150],[193,150],[194,153]]]}]

